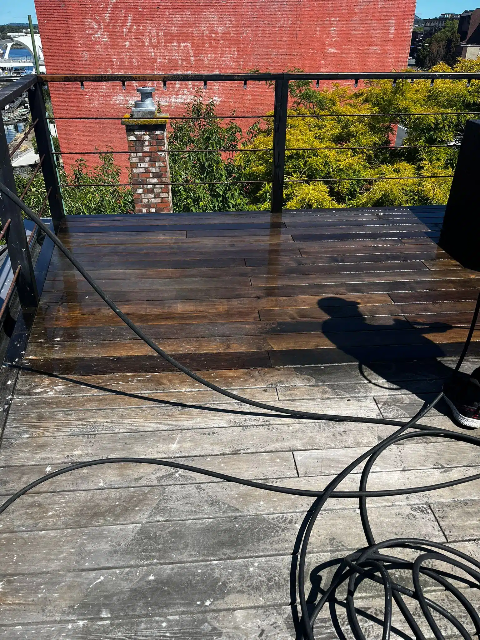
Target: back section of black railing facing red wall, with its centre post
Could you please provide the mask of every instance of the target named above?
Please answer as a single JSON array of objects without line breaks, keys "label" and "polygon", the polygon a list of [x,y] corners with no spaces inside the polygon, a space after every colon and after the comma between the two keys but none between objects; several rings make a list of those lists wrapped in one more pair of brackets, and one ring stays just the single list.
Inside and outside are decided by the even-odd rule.
[{"label": "back section of black railing facing red wall, with its centre post", "polygon": [[[402,147],[395,147],[394,145],[380,145],[377,147],[358,147],[358,146],[349,146],[342,145],[337,147],[285,147],[285,139],[287,132],[287,120],[291,118],[399,118],[401,116],[415,117],[415,116],[442,116],[442,117],[451,117],[451,116],[468,116],[475,115],[477,111],[425,111],[424,113],[332,113],[332,114],[292,114],[288,113],[288,100],[289,100],[289,83],[291,81],[308,81],[310,83],[315,83],[315,86],[318,88],[319,83],[323,81],[342,81],[342,82],[350,82],[353,83],[353,86],[358,86],[359,81],[374,81],[374,80],[390,80],[392,81],[392,85],[396,86],[397,81],[399,80],[407,80],[410,82],[415,82],[417,80],[429,80],[430,85],[433,86],[436,80],[441,79],[449,79],[456,81],[464,81],[466,82],[466,86],[470,86],[472,80],[480,79],[480,74],[472,74],[472,73],[431,73],[431,72],[407,72],[407,73],[319,73],[319,74],[306,74],[306,73],[282,73],[282,74],[96,74],[96,75],[68,75],[68,76],[53,76],[53,75],[45,75],[42,76],[42,81],[46,81],[48,83],[78,83],[82,90],[88,90],[88,85],[90,83],[121,83],[122,88],[126,88],[127,83],[161,83],[163,89],[166,90],[169,84],[171,83],[198,83],[199,88],[207,88],[209,83],[243,83],[243,88],[248,86],[248,83],[255,82],[259,83],[266,82],[275,86],[275,97],[273,104],[273,115],[271,114],[263,114],[263,113],[247,113],[241,115],[211,115],[211,116],[202,116],[203,119],[207,120],[209,118],[214,120],[225,120],[228,118],[229,120],[273,120],[272,129],[273,129],[273,146],[271,148],[228,148],[228,149],[185,149],[185,150],[177,150],[171,149],[166,150],[166,154],[196,154],[196,153],[218,153],[221,152],[230,152],[232,154],[237,153],[258,153],[258,152],[271,152],[272,154],[272,171],[271,177],[262,177],[261,180],[248,180],[248,179],[230,179],[223,181],[207,181],[207,180],[199,180],[196,182],[186,181],[186,180],[178,180],[173,176],[172,182],[168,183],[171,187],[188,187],[188,186],[213,186],[213,185],[258,185],[258,184],[271,184],[271,211],[280,212],[282,211],[282,207],[284,205],[284,187],[287,184],[291,183],[314,183],[314,182],[325,182],[326,184],[340,183],[340,182],[360,182],[360,181],[369,181],[369,182],[378,182],[381,180],[428,180],[428,179],[451,179],[451,173],[443,173],[442,175],[430,175],[430,173],[426,173],[425,175],[372,175],[366,178],[359,177],[329,177],[321,178],[308,178],[308,177],[298,177],[298,176],[290,176],[285,178],[285,157],[293,152],[318,152],[320,150],[329,150],[335,152],[345,152],[348,150],[360,150],[371,148],[371,150],[391,150],[396,154],[400,154],[402,151],[407,151],[409,149],[421,149],[421,148],[440,148],[440,147],[448,147],[448,148],[456,148],[458,144],[451,143],[449,145],[404,145]],[[252,109],[253,111],[253,109]],[[479,105],[480,111],[480,105]],[[197,116],[170,116],[169,120],[191,120],[196,119]],[[69,115],[69,116],[61,116],[56,117],[56,120],[91,120],[91,121],[115,121],[120,120],[122,116],[79,116],[79,115]],[[57,156],[88,156],[93,154],[99,154],[102,152],[92,151],[92,150],[68,150],[66,153],[57,152]],[[114,154],[127,154],[127,151],[117,151],[113,150]],[[83,187],[95,187],[95,186],[119,186],[119,187],[127,187],[131,186],[129,182],[116,182],[115,184],[104,184],[100,185],[95,182],[77,182],[77,184],[61,184],[61,188],[65,189],[77,189]]]}]

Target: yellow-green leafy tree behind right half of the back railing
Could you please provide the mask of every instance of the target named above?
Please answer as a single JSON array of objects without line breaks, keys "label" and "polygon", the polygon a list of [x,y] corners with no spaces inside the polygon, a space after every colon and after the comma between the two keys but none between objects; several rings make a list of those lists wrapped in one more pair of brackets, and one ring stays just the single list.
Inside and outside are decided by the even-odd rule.
[{"label": "yellow-green leafy tree behind right half of the back railing", "polygon": [[[442,63],[433,71],[451,68]],[[479,72],[480,61],[460,61],[454,71]],[[287,209],[445,203],[451,179],[442,176],[454,170],[458,147],[452,145],[469,117],[447,112],[480,111],[478,81],[470,87],[465,81],[451,80],[438,80],[433,87],[422,80],[397,81],[395,86],[392,81],[372,81],[356,91],[338,84],[315,90],[301,82],[291,83],[290,95]],[[413,115],[417,113],[422,115]],[[394,147],[399,124],[408,134],[403,147]],[[266,120],[247,147],[272,145],[272,123]],[[316,150],[304,150],[308,147]],[[248,180],[271,179],[271,163],[270,151],[239,154],[236,159],[239,172]],[[267,183],[250,185],[249,208],[268,209],[270,189]]]}]

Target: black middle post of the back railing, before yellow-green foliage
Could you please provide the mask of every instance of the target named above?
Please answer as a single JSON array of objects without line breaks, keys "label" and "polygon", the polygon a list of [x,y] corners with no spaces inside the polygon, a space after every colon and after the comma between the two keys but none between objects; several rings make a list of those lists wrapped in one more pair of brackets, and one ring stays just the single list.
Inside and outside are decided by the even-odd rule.
[{"label": "black middle post of the back railing, before yellow-green foliage", "polygon": [[285,139],[287,137],[287,108],[289,81],[275,80],[275,107],[273,112],[273,172],[271,185],[271,211],[281,213],[284,205]]}]

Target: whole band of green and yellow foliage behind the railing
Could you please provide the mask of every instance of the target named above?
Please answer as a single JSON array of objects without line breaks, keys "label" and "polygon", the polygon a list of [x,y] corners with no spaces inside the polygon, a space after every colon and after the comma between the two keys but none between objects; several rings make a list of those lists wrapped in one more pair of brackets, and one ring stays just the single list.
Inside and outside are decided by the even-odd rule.
[{"label": "whole band of green and yellow foliage behind the railing", "polygon": [[[432,68],[449,72],[445,63]],[[460,60],[454,72],[479,73],[480,60]],[[333,84],[316,90],[291,82],[285,152],[287,209],[444,204],[468,113],[480,112],[480,81],[371,81],[354,90]],[[456,112],[452,115],[451,112]],[[242,132],[234,114],[221,118],[202,92],[173,121],[168,134],[173,211],[269,209],[273,118]],[[394,147],[397,126],[407,131]],[[184,151],[188,151],[184,153]],[[70,214],[133,212],[132,191],[120,186],[113,154],[88,168],[77,160],[61,172]],[[27,178],[17,177],[21,193]],[[207,182],[190,186],[182,183]],[[227,182],[228,184],[216,184]],[[97,186],[113,183],[113,186]],[[75,185],[86,184],[86,187]],[[91,186],[90,186],[91,185]],[[45,197],[39,172],[26,203],[38,211]],[[47,212],[45,212],[47,213]]]}]

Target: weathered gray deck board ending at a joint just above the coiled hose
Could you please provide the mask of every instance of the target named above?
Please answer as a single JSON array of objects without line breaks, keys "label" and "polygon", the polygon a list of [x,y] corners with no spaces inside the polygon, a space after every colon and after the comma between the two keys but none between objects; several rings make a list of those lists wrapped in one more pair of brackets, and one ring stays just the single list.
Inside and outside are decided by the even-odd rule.
[{"label": "weathered gray deck board ending at a joint just above the coiled hose", "polygon": [[[178,505],[179,514],[182,505]],[[409,536],[445,542],[428,505],[372,507],[379,540]],[[342,525],[339,527],[339,515]],[[106,516],[108,519],[108,515]],[[156,566],[242,557],[291,556],[301,513],[196,518],[0,534],[3,575]],[[468,536],[471,538],[472,536]],[[345,554],[362,547],[355,510],[325,511],[310,538],[312,552]]]}]

